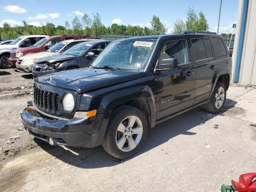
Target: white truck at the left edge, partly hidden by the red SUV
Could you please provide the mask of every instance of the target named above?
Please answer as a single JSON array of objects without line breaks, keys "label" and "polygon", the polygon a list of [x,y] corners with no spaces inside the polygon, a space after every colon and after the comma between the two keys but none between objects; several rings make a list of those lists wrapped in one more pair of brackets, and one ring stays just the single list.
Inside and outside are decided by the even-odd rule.
[{"label": "white truck at the left edge, partly hidden by the red SUV", "polygon": [[16,48],[25,48],[32,46],[42,38],[48,37],[47,35],[27,35],[20,36],[16,38],[9,45],[0,45],[0,66],[2,68],[10,68],[10,64],[8,62],[8,58],[10,57],[10,52],[12,52]]}]

